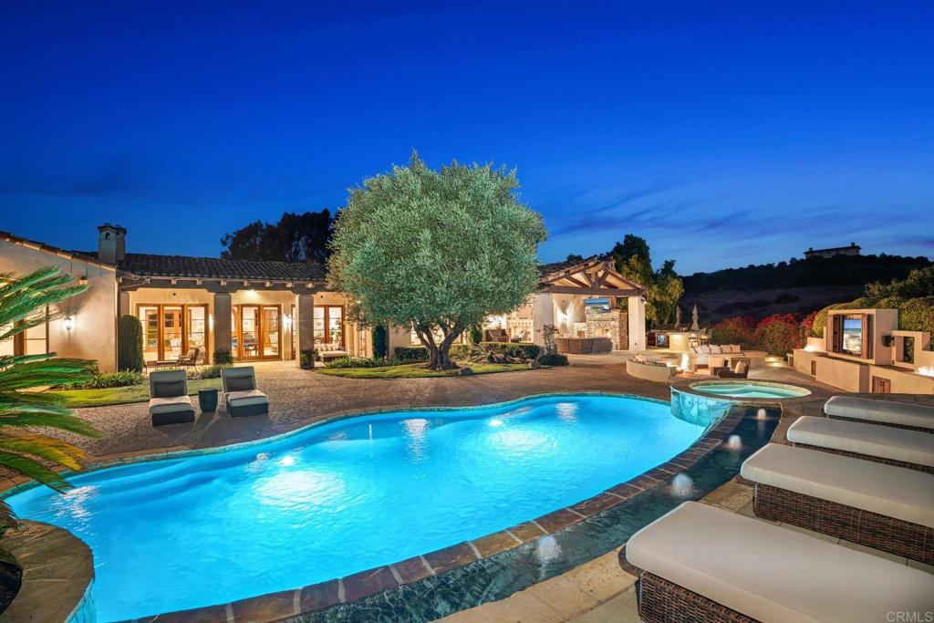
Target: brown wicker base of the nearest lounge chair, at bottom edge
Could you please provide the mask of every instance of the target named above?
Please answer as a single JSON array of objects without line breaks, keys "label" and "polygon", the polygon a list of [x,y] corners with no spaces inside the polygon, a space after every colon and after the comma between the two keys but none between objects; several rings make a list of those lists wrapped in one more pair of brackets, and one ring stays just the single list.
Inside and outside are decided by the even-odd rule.
[{"label": "brown wicker base of the nearest lounge chair, at bottom edge", "polygon": [[639,617],[645,623],[758,623],[647,571],[639,576],[638,595]]}]

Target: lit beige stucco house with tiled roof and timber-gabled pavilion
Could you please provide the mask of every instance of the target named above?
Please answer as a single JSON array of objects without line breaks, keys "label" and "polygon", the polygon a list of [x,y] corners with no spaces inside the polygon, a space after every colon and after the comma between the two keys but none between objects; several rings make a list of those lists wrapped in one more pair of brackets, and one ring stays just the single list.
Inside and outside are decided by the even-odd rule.
[{"label": "lit beige stucco house with tiled roof and timber-gabled pavilion", "polygon": [[[142,322],[149,362],[177,360],[194,348],[205,362],[221,349],[235,361],[296,360],[309,348],[373,354],[370,329],[347,320],[347,296],[327,288],[323,265],[130,253],[126,229],[106,223],[97,230],[95,251],[0,232],[0,273],[54,264],[88,285],[64,303],[65,319],[0,344],[0,354],[57,352],[115,370],[117,319],[126,314]],[[629,313],[616,309],[618,297],[629,300]],[[552,324],[563,335],[611,337],[616,348],[642,350],[644,318],[642,288],[609,262],[592,260],[543,266],[529,303],[488,325],[502,320],[510,337],[542,344],[543,327]],[[389,331],[390,352],[412,344],[407,329]]]}]

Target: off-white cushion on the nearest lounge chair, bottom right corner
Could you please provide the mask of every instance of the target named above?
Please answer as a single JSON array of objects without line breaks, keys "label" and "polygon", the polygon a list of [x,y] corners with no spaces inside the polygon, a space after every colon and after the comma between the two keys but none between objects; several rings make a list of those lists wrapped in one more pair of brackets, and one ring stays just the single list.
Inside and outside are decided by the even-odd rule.
[{"label": "off-white cushion on the nearest lounge chair, bottom right corner", "polygon": [[695,502],[636,532],[626,558],[760,621],[879,623],[934,594],[934,574]]}]

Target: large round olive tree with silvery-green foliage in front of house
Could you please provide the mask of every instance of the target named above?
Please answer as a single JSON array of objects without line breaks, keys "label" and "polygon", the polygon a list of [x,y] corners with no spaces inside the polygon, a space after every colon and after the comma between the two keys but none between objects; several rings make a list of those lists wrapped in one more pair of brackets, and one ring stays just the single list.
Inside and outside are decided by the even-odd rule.
[{"label": "large round olive tree with silvery-green foliage in front of house", "polygon": [[448,349],[488,314],[523,304],[538,282],[542,217],[517,200],[515,171],[457,162],[408,166],[351,189],[328,260],[348,316],[411,328],[428,366],[456,368]]}]

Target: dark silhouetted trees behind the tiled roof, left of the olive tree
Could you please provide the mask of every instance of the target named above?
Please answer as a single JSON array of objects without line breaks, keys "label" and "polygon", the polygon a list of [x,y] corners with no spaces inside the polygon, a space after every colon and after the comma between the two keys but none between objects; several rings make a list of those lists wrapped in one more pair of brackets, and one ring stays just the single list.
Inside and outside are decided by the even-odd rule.
[{"label": "dark silhouetted trees behind the tiled roof, left of the olive tree", "polygon": [[224,235],[224,260],[325,262],[333,229],[330,210],[295,214],[286,212],[273,225],[262,220]]}]

